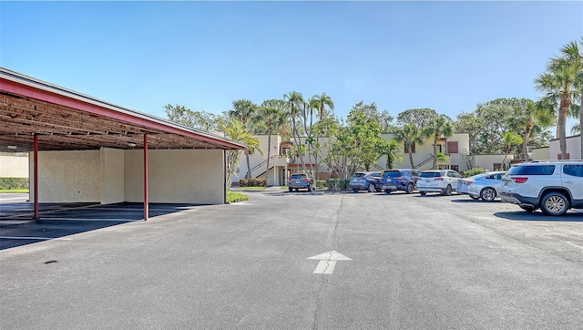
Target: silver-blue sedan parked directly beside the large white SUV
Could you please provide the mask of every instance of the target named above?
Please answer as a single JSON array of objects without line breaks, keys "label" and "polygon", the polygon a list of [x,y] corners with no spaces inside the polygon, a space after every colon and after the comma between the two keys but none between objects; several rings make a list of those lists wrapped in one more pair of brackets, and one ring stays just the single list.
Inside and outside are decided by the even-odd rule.
[{"label": "silver-blue sedan parked directly beside the large white SUV", "polygon": [[457,180],[455,191],[468,195],[474,200],[494,201],[500,195],[502,176],[506,171],[487,172],[472,177]]}]

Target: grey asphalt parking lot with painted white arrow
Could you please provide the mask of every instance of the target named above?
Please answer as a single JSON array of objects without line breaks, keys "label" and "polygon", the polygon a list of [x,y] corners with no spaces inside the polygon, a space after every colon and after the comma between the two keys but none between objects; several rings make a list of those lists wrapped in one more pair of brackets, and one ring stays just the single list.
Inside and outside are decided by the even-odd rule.
[{"label": "grey asphalt parking lot with painted white arrow", "polygon": [[148,222],[109,222],[88,230],[83,229],[95,221],[86,218],[0,223],[3,237],[8,230],[35,233],[47,222],[77,228],[0,251],[0,325],[580,329],[583,324],[581,211],[550,218],[460,195],[246,193],[251,201],[193,206]]}]

